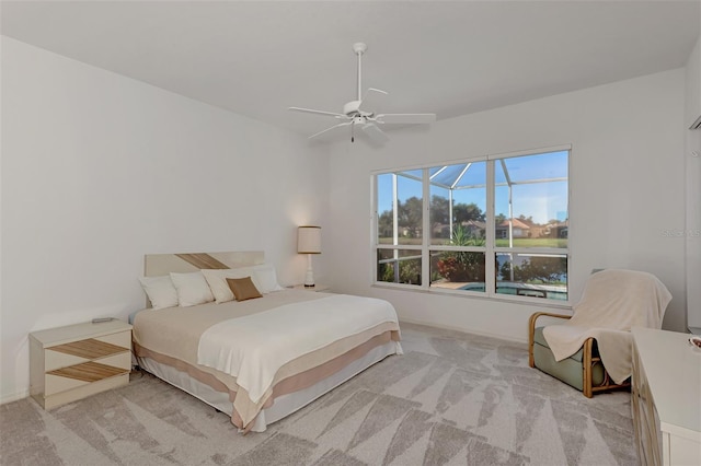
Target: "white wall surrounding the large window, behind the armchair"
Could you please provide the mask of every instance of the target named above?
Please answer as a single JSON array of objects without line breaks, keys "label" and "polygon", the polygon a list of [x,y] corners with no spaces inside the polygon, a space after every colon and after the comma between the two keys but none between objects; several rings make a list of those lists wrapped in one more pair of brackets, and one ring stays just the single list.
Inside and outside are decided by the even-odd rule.
[{"label": "white wall surrounding the large window, behind the armchair", "polygon": [[679,69],[402,130],[381,150],[335,145],[325,240],[336,247],[323,255],[334,290],[384,298],[406,321],[526,340],[538,306],[370,286],[370,173],[572,144],[574,301],[593,268],[646,270],[674,295],[664,326],[682,329],[685,242],[664,230],[685,221],[683,92]]}]

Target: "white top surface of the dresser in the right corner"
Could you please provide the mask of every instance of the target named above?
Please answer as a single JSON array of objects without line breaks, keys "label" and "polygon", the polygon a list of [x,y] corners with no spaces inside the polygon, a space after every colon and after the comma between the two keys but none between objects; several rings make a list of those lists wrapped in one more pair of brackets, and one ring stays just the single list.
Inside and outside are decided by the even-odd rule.
[{"label": "white top surface of the dresser in the right corner", "polygon": [[633,328],[633,340],[655,401],[662,430],[701,438],[701,351],[690,334]]}]

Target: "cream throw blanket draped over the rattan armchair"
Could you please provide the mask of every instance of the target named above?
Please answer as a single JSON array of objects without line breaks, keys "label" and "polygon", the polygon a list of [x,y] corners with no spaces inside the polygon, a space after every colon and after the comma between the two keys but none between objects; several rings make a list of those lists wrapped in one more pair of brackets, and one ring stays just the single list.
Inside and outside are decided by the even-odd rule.
[{"label": "cream throw blanket draped over the rattan armchair", "polygon": [[566,324],[549,325],[543,337],[556,361],[596,339],[601,362],[613,382],[632,373],[632,327],[660,328],[671,294],[653,275],[633,270],[602,270],[589,277],[582,300]]}]

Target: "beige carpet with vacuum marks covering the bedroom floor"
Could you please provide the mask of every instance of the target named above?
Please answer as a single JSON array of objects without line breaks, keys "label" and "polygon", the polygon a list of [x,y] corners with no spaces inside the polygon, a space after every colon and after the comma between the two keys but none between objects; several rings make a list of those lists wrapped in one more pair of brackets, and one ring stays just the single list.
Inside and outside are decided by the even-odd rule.
[{"label": "beige carpet with vacuum marks covering the bedroom floor", "polygon": [[629,393],[528,368],[526,345],[403,325],[386,359],[265,433],[136,373],[53,411],[0,406],[2,465],[635,465]]}]

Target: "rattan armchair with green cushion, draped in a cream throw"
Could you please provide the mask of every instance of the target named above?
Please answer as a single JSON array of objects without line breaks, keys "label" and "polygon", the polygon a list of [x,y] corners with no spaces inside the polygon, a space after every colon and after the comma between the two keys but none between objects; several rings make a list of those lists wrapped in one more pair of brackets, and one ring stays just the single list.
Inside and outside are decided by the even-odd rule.
[{"label": "rattan armchair with green cushion, draped in a cream throw", "polygon": [[[528,326],[528,364],[581,391],[630,386],[632,327],[660,328],[671,294],[653,275],[601,270],[585,284],[573,315],[538,312]],[[537,327],[540,317],[562,325]]]}]

